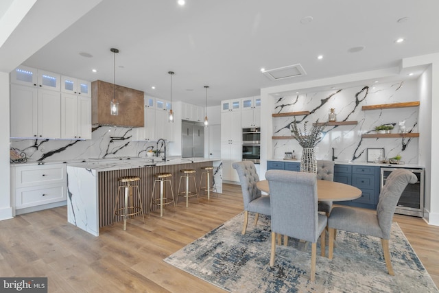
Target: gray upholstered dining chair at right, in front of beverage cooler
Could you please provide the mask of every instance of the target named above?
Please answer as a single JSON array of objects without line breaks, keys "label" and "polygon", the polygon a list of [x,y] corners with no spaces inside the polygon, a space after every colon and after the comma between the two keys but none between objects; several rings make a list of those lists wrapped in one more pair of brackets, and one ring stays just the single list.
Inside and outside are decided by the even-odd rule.
[{"label": "gray upholstered dining chair at right, in front of beverage cooler", "polygon": [[379,194],[377,213],[347,207],[333,208],[328,220],[329,259],[333,257],[334,236],[337,230],[379,237],[383,246],[385,266],[387,266],[389,274],[394,275],[389,252],[393,215],[396,204],[398,204],[407,184],[417,181],[416,175],[406,169],[397,169],[390,173]]}]

